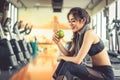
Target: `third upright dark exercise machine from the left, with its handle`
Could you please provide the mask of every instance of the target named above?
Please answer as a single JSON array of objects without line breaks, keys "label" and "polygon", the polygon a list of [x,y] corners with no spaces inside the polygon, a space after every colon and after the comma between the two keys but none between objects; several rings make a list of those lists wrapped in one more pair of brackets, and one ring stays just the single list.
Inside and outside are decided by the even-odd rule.
[{"label": "third upright dark exercise machine from the left, with its handle", "polygon": [[29,51],[28,51],[28,49],[27,49],[27,45],[26,45],[25,41],[22,40],[22,38],[20,37],[20,32],[19,32],[19,30],[18,30],[18,26],[20,26],[20,23],[17,21],[17,22],[14,24],[15,33],[16,33],[16,35],[18,36],[18,43],[19,43],[20,48],[21,48],[21,50],[22,50],[22,52],[23,52],[23,55],[24,55],[25,59],[26,59],[27,61],[29,61],[30,58],[31,58],[31,54],[29,53]]}]

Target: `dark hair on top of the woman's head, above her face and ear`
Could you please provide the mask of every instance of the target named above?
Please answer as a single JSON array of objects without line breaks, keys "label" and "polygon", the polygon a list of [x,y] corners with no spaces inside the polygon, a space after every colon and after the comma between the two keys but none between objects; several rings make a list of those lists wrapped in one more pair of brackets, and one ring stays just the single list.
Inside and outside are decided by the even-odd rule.
[{"label": "dark hair on top of the woman's head, above her face and ear", "polygon": [[90,23],[90,16],[89,16],[88,12],[85,9],[82,9],[80,7],[74,7],[72,9],[70,9],[69,13],[67,14],[68,19],[69,19],[70,14],[72,14],[75,19],[77,19],[77,18],[80,18],[80,19],[86,18],[85,24]]}]

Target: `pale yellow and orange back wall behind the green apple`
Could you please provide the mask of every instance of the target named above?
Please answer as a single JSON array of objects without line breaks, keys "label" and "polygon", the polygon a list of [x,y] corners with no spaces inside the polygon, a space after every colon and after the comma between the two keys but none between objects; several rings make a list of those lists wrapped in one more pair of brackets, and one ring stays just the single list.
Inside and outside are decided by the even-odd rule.
[{"label": "pale yellow and orange back wall behind the green apple", "polygon": [[72,37],[72,32],[70,31],[67,20],[68,11],[68,8],[62,9],[62,12],[59,13],[53,13],[51,8],[19,9],[18,20],[23,20],[23,26],[25,26],[26,23],[28,23],[29,26],[33,26],[30,35],[37,36],[40,42],[51,42],[53,29],[55,27],[64,30],[64,42],[66,42],[71,40]]}]

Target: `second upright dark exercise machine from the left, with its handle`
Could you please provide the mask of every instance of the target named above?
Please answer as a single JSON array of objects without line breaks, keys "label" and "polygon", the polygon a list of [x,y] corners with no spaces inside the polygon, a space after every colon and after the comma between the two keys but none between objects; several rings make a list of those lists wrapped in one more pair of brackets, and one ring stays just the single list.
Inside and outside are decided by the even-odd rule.
[{"label": "second upright dark exercise machine from the left, with its handle", "polygon": [[10,18],[7,18],[5,20],[5,23],[3,25],[3,27],[6,27],[7,28],[7,31],[9,32],[10,34],[10,43],[12,45],[12,48],[13,48],[13,51],[14,51],[14,54],[16,55],[16,58],[17,58],[17,61],[18,63],[24,63],[24,56],[23,56],[23,53],[20,49],[20,46],[18,44],[18,42],[14,39],[14,37],[12,36],[12,32],[10,30],[10,23],[11,23],[11,19]]}]

